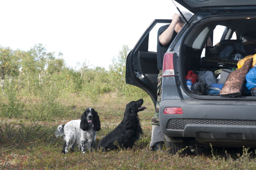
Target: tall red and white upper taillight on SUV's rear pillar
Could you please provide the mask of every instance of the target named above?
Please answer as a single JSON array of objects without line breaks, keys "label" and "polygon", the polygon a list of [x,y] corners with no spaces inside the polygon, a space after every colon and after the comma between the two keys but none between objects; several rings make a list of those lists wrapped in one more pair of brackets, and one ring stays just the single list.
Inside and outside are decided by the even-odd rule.
[{"label": "tall red and white upper taillight on SUV's rear pillar", "polygon": [[173,53],[164,54],[163,77],[174,76]]}]

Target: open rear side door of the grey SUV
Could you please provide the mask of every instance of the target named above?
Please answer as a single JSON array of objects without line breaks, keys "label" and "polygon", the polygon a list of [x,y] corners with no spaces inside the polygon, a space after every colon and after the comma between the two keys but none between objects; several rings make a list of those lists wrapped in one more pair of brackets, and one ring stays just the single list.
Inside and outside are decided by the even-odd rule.
[{"label": "open rear side door of the grey SUV", "polygon": [[126,59],[126,84],[137,86],[146,91],[155,106],[159,73],[156,62],[157,31],[160,26],[170,24],[171,21],[154,20]]}]

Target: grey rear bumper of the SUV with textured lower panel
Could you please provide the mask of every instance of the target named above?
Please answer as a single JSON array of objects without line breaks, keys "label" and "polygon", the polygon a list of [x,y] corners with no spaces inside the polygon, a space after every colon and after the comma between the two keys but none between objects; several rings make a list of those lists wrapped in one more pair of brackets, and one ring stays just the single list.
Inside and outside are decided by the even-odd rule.
[{"label": "grey rear bumper of the SUV with textured lower panel", "polygon": [[[234,145],[239,146],[245,141],[256,140],[255,103],[192,98],[163,100],[160,103],[160,127],[167,137],[192,137],[200,143],[229,141],[229,146],[236,141]],[[165,107],[182,107],[183,114],[165,115]]]}]

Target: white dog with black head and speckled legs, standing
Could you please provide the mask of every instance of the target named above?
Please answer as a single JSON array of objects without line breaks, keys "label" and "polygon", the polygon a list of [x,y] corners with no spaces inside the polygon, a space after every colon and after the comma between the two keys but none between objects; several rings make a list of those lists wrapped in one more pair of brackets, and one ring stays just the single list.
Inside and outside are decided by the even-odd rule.
[{"label": "white dog with black head and speckled legs, standing", "polygon": [[74,151],[76,146],[84,153],[86,149],[95,148],[96,131],[100,130],[100,117],[93,108],[87,108],[81,120],[72,120],[65,125],[59,125],[55,132],[56,137],[65,135],[62,153],[68,149]]}]

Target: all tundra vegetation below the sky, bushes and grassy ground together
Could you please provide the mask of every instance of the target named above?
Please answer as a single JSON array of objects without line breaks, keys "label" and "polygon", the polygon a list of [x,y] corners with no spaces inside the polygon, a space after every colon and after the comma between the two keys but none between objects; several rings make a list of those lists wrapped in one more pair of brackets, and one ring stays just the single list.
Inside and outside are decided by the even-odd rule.
[{"label": "all tundra vegetation below the sky, bushes and grassy ground together", "polygon": [[[0,169],[256,168],[254,149],[209,146],[185,156],[148,149],[154,105],[143,90],[125,84],[128,52],[124,45],[106,70],[86,62],[69,68],[62,53],[56,57],[42,44],[29,51],[0,47]],[[102,127],[97,143],[120,123],[126,104],[140,98],[147,107],[139,113],[144,134],[133,149],[61,153],[62,138],[54,135],[58,125],[93,107]]]}]

